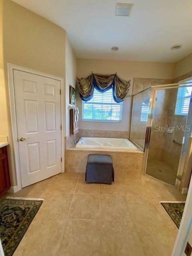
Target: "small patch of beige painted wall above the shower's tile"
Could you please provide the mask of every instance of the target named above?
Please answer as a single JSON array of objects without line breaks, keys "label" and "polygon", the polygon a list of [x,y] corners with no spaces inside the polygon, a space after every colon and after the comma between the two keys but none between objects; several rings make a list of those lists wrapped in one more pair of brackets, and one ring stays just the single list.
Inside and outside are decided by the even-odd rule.
[{"label": "small patch of beige painted wall above the shower's tile", "polygon": [[174,78],[192,72],[192,53],[175,64]]}]

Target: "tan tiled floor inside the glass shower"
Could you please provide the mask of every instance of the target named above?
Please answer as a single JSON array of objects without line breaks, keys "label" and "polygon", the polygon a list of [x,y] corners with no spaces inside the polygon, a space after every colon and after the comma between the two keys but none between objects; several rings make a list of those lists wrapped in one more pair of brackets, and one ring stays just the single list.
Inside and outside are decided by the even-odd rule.
[{"label": "tan tiled floor inside the glass shower", "polygon": [[174,168],[161,160],[148,160],[146,174],[175,185],[177,173]]}]

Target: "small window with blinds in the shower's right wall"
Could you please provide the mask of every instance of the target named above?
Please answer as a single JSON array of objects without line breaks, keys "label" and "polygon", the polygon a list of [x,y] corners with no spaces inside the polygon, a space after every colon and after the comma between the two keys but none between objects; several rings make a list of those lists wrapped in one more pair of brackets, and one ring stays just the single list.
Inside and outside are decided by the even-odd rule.
[{"label": "small window with blinds in the shower's right wall", "polygon": [[[182,85],[182,84],[181,84]],[[178,88],[175,115],[187,115],[189,110],[192,87]]]}]

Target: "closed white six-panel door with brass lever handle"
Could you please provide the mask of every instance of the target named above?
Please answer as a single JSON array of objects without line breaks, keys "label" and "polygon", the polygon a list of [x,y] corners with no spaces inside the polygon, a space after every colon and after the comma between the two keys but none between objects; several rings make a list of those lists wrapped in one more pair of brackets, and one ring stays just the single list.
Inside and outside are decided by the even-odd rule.
[{"label": "closed white six-panel door with brass lever handle", "polygon": [[61,172],[60,81],[14,70],[22,188]]}]

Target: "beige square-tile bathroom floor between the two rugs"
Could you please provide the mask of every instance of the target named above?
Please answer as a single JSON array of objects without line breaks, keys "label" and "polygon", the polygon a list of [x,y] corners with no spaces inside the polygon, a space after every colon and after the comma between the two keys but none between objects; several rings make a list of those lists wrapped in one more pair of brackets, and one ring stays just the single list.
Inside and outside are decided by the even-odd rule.
[{"label": "beige square-tile bathroom floor between the two rugs", "polygon": [[64,173],[7,193],[44,198],[14,256],[170,256],[178,229],[159,202],[185,196],[139,174],[118,175],[105,185]]}]

